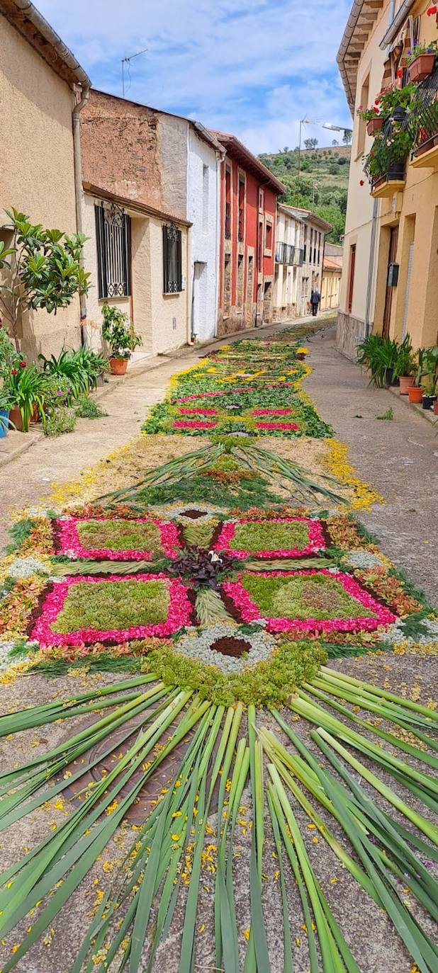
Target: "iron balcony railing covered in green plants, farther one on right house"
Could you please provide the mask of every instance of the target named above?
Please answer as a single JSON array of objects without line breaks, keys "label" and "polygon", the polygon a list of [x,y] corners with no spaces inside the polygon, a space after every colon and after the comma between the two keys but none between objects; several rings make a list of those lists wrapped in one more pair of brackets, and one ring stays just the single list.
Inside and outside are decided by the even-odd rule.
[{"label": "iron balcony railing covered in green plants, farther one on right house", "polygon": [[373,189],[383,181],[404,181],[411,146],[412,133],[405,109],[394,108],[392,115],[385,119],[364,164]]}]

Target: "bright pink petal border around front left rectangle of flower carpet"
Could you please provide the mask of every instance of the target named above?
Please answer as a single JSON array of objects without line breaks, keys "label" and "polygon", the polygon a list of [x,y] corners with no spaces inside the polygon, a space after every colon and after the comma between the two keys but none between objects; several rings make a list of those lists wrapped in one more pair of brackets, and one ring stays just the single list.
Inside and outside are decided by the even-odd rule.
[{"label": "bright pink petal border around front left rectangle of flower carpet", "polygon": [[[102,581],[165,581],[168,586],[169,596],[168,615],[165,622],[161,622],[159,625],[137,625],[131,626],[129,629],[108,629],[106,631],[92,628],[67,632],[52,631],[52,623],[55,622],[59,612],[62,610],[71,586],[77,585],[79,582],[94,585]],[[42,614],[35,623],[30,637],[37,639],[42,646],[83,645],[91,642],[109,641],[125,642],[132,638],[147,638],[148,636],[164,638],[182,626],[190,625],[191,616],[192,605],[187,595],[187,589],[178,578],[169,579],[164,574],[110,574],[100,578],[81,574],[74,578],[66,578],[65,581],[55,584],[54,590],[47,596],[43,604]]]}]

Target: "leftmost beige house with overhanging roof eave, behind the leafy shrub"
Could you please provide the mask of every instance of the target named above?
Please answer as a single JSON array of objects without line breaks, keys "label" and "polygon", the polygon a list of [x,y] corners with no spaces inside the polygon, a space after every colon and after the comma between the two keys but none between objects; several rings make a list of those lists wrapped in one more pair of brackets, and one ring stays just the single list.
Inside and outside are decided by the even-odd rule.
[{"label": "leftmost beige house with overhanging roof eave, behind the leafy shrub", "polygon": [[[74,234],[79,117],[91,81],[29,0],[0,0],[0,36],[0,239],[11,243],[5,209],[13,206],[33,224]],[[24,312],[17,332],[29,359],[77,346],[79,299],[56,314]]]}]

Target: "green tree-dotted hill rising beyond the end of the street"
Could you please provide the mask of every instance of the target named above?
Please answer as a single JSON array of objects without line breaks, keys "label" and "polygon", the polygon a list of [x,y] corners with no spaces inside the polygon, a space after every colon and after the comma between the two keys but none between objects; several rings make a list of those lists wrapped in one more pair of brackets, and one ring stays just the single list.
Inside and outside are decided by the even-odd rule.
[{"label": "green tree-dotted hill rising beyond the end of the street", "polygon": [[328,235],[339,243],[346,226],[347,187],[350,145],[302,149],[298,181],[298,149],[283,149],[274,154],[262,153],[260,159],[287,187],[281,202],[312,209],[332,224]]}]

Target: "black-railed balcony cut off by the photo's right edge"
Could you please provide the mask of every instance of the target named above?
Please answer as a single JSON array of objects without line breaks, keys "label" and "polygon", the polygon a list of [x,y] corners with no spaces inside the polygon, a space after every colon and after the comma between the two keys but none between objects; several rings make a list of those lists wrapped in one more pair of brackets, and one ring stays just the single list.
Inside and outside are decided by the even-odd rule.
[{"label": "black-railed balcony cut off by the photo's right edge", "polygon": [[417,91],[412,164],[416,169],[438,169],[438,67],[420,82]]}]

